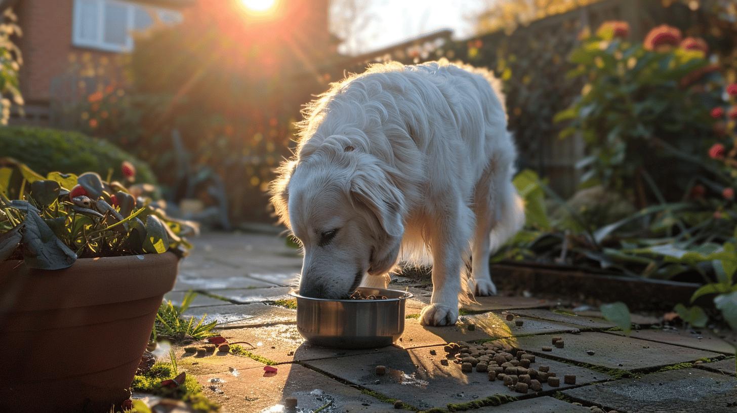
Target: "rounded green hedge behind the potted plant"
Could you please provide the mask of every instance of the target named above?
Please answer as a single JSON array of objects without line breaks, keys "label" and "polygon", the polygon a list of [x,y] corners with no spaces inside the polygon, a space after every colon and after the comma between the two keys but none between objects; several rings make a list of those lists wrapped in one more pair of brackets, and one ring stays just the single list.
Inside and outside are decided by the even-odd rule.
[{"label": "rounded green hedge behind the potted plant", "polygon": [[120,164],[136,167],[136,182],[156,183],[150,167],[111,142],[71,131],[6,126],[0,128],[0,156],[10,156],[42,175],[52,171],[85,173],[94,171],[106,178],[122,180]]}]

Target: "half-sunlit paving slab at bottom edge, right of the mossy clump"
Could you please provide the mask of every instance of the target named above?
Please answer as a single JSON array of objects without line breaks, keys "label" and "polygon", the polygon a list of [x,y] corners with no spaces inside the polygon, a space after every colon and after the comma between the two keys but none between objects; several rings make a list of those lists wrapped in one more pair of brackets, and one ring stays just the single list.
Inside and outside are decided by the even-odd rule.
[{"label": "half-sunlit paving slab at bottom edge, right of the mossy clump", "polygon": [[[321,413],[407,412],[395,410],[389,403],[298,364],[282,364],[276,368],[279,371],[274,375],[262,369],[246,369],[240,371],[238,377],[217,373],[200,375],[198,381],[204,387],[204,394],[221,404],[222,413],[284,412],[278,405],[283,405],[287,397],[297,398],[299,412],[314,412],[330,399],[332,406]],[[212,379],[225,383],[211,383]]]}]

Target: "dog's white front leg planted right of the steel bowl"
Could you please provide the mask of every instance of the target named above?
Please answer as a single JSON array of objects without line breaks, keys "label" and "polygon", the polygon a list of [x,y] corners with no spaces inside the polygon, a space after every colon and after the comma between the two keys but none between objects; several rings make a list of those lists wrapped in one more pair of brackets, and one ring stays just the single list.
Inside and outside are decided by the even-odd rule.
[{"label": "dog's white front leg planted right of the steel bowl", "polygon": [[458,293],[461,291],[461,257],[467,248],[469,228],[461,215],[467,208],[446,213],[429,228],[433,250],[433,295],[422,309],[420,322],[425,325],[453,325],[458,321]]}]

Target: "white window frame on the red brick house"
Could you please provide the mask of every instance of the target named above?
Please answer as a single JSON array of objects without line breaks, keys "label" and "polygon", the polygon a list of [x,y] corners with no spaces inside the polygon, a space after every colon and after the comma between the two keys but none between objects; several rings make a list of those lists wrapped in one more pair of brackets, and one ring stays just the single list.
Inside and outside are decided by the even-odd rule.
[{"label": "white window frame on the red brick house", "polygon": [[[85,39],[82,37],[82,3],[83,0],[74,0],[74,10],[72,12],[71,24],[71,44],[77,47],[86,47],[89,49],[99,49],[105,52],[130,52],[133,50],[133,36],[131,32],[135,30],[135,11],[136,7],[143,7],[147,10],[154,10],[156,13],[179,13],[178,10],[165,9],[162,7],[144,6],[130,1],[122,0],[86,0],[97,3],[97,38],[95,40]],[[125,44],[115,44],[105,41],[105,5],[116,4],[126,8],[126,34]],[[181,14],[180,14],[181,15]]]}]

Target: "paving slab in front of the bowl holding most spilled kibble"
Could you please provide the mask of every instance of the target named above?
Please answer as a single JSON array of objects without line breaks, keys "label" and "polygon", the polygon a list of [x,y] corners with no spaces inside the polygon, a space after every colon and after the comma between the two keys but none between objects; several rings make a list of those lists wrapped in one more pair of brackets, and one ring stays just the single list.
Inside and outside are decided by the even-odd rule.
[{"label": "paving slab in front of the bowl holding most spilled kibble", "polygon": [[[431,355],[430,350],[436,350],[437,355]],[[453,362],[444,366],[440,362],[442,358],[445,358],[443,347],[438,346],[309,360],[304,364],[390,398],[399,398],[419,409],[444,407],[448,403],[467,403],[492,395],[534,396],[533,393],[521,395],[514,392],[502,381],[490,382],[485,372],[464,373]],[[604,373],[543,358],[538,358],[532,367],[541,364],[548,365],[551,372],[556,372],[561,378],[564,374],[575,374],[576,385],[609,379]],[[385,375],[376,375],[374,369],[377,365],[386,367]],[[562,382],[560,387],[555,388],[544,383],[542,392],[538,394],[570,387]]]}]

